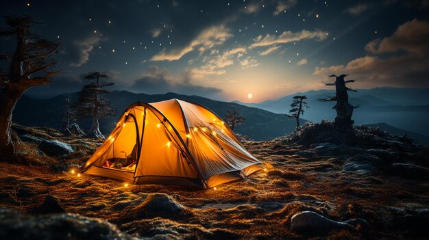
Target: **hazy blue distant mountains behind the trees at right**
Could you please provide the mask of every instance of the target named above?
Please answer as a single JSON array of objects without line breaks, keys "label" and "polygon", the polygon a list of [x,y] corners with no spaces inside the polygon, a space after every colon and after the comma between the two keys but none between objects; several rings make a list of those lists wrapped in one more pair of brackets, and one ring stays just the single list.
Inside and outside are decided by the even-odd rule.
[{"label": "hazy blue distant mountains behind the trees at right", "polygon": [[[302,116],[312,122],[333,120],[335,103],[323,103],[319,98],[334,96],[334,90],[311,90],[297,92],[275,100],[261,103],[240,103],[248,107],[258,107],[276,114],[287,113],[293,96],[306,95],[310,108]],[[429,88],[373,88],[349,92],[350,103],[360,105],[354,109],[355,124],[376,124],[385,122],[397,129],[413,131],[429,136],[427,120],[429,119]],[[237,103],[237,102],[235,102]]]}]

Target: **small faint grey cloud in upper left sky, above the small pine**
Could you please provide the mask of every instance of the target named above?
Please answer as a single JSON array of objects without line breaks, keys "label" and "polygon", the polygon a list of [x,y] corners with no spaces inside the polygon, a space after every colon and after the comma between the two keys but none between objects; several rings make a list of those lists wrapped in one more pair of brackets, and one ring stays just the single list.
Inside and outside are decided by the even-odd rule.
[{"label": "small faint grey cloud in upper left sky, above the small pine", "polygon": [[89,61],[89,54],[94,49],[94,45],[99,44],[99,36],[90,36],[84,40],[73,42],[73,45],[66,49],[66,53],[72,57],[70,66],[82,66]]}]

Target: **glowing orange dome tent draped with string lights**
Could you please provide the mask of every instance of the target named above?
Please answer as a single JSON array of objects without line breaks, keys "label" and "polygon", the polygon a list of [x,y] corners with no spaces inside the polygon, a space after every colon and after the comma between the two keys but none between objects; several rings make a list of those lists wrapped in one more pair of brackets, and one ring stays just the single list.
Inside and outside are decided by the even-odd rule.
[{"label": "glowing orange dome tent draped with string lights", "polygon": [[215,113],[178,99],[128,107],[83,172],[136,184],[210,188],[258,172],[252,156]]}]

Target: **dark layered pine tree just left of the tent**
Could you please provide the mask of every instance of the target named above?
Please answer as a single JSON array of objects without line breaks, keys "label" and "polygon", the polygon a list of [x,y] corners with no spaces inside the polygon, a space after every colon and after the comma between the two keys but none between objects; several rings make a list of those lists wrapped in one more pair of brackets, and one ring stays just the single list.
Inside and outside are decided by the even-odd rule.
[{"label": "dark layered pine tree just left of the tent", "polygon": [[116,110],[110,105],[110,101],[103,97],[103,94],[112,92],[104,89],[114,83],[100,83],[100,78],[107,78],[100,72],[88,72],[84,78],[90,83],[84,85],[79,92],[79,102],[77,103],[77,120],[93,118],[93,124],[88,132],[88,137],[104,138],[99,129],[99,118],[108,118],[116,114]]}]

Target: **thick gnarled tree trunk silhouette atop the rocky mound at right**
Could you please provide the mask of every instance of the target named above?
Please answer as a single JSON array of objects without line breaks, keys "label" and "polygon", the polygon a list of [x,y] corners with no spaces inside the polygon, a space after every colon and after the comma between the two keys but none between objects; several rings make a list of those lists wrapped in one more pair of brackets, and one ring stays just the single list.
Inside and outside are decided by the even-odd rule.
[{"label": "thick gnarled tree trunk silhouette atop the rocky mound at right", "polygon": [[336,101],[336,105],[332,107],[336,111],[336,118],[335,123],[341,126],[352,126],[354,121],[352,120],[353,115],[353,109],[360,107],[352,106],[349,103],[349,95],[347,94],[347,91],[356,92],[356,90],[353,90],[352,88],[347,88],[345,85],[346,83],[354,83],[356,80],[347,80],[345,81],[344,78],[348,75],[330,75],[329,77],[335,77],[334,83],[325,83],[327,86],[335,86],[335,96],[328,97],[328,98],[320,98],[319,101],[322,102],[331,102]]}]

